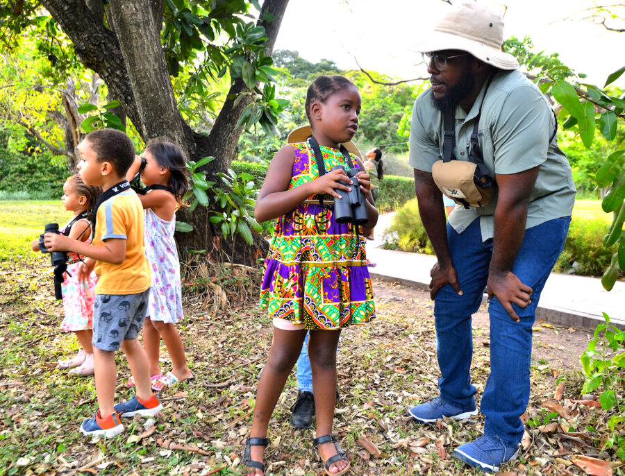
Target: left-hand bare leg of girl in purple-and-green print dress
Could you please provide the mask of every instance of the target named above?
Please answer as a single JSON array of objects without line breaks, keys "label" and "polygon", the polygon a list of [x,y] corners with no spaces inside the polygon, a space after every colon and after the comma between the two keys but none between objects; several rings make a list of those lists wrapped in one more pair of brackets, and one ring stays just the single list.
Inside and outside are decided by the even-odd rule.
[{"label": "left-hand bare leg of girl in purple-and-green print dress", "polygon": [[[249,436],[251,438],[263,438],[267,436],[269,418],[272,417],[278,397],[282,393],[284,384],[301,350],[306,330],[281,330],[274,328],[272,348],[269,350],[267,364],[263,368],[256,392],[256,406],[254,407],[254,419]],[[253,461],[263,461],[263,446],[252,446],[250,457]],[[251,468],[246,473],[248,476],[259,476],[260,470]]]}]

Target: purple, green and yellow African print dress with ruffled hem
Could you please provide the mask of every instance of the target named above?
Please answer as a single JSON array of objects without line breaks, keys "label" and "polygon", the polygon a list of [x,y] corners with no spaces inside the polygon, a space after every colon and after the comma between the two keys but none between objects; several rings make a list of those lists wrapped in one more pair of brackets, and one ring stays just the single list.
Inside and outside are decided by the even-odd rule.
[{"label": "purple, green and yellow African print dress with ruffled hem", "polygon": [[[306,142],[295,149],[289,189],[319,176]],[[347,168],[340,151],[320,146],[326,170]],[[356,164],[352,155],[352,160]],[[356,165],[356,167],[358,167]],[[365,240],[351,223],[336,223],[333,198],[309,197],[278,219],[265,260],[260,307],[307,330],[334,330],[375,317]]]}]

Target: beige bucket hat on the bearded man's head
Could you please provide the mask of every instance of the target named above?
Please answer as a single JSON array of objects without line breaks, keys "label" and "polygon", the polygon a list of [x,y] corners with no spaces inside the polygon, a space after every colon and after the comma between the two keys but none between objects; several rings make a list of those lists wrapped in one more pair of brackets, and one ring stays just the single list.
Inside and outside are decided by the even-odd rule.
[{"label": "beige bucket hat on the bearded man's head", "polygon": [[422,40],[412,48],[430,53],[445,49],[467,51],[488,65],[499,69],[517,69],[519,62],[501,51],[503,19],[476,3],[452,6]]}]

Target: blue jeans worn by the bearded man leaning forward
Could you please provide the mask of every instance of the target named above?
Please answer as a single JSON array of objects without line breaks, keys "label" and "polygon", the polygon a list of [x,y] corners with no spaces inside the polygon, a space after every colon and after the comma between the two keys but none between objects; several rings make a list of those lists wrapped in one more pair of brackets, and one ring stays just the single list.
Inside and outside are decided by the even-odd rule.
[{"label": "blue jeans worn by the bearded man leaning forward", "polygon": [[[520,321],[503,309],[497,298],[490,301],[490,375],[481,400],[485,415],[484,434],[499,436],[515,445],[523,437],[519,418],[530,394],[532,325],[544,283],[562,251],[570,216],[549,220],[525,230],[512,273],[533,289],[524,309],[512,305]],[[481,304],[492,257],[492,239],[482,242],[479,219],[458,234],[447,225],[447,242],[458,273],[462,296],[447,284],[434,300],[436,351],[442,377],[438,382],[444,400],[463,407],[472,406],[475,387],[469,368],[473,355],[471,316]]]}]

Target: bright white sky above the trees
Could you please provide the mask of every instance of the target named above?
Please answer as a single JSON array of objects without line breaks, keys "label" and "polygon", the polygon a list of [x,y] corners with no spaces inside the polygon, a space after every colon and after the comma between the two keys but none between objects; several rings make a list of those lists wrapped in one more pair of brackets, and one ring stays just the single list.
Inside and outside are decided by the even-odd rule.
[{"label": "bright white sky above the trees", "polygon": [[[560,60],[603,86],[608,74],[625,65],[625,33],[606,31],[589,20],[560,21],[592,6],[592,0],[501,0],[504,38],[528,35],[534,51],[560,53]],[[410,51],[419,35],[449,8],[442,0],[290,0],[275,49],[299,51],[317,62],[333,60],[356,69],[353,56],[367,70],[402,79],[427,76],[420,55]],[[617,81],[625,85],[625,75]]]}]

